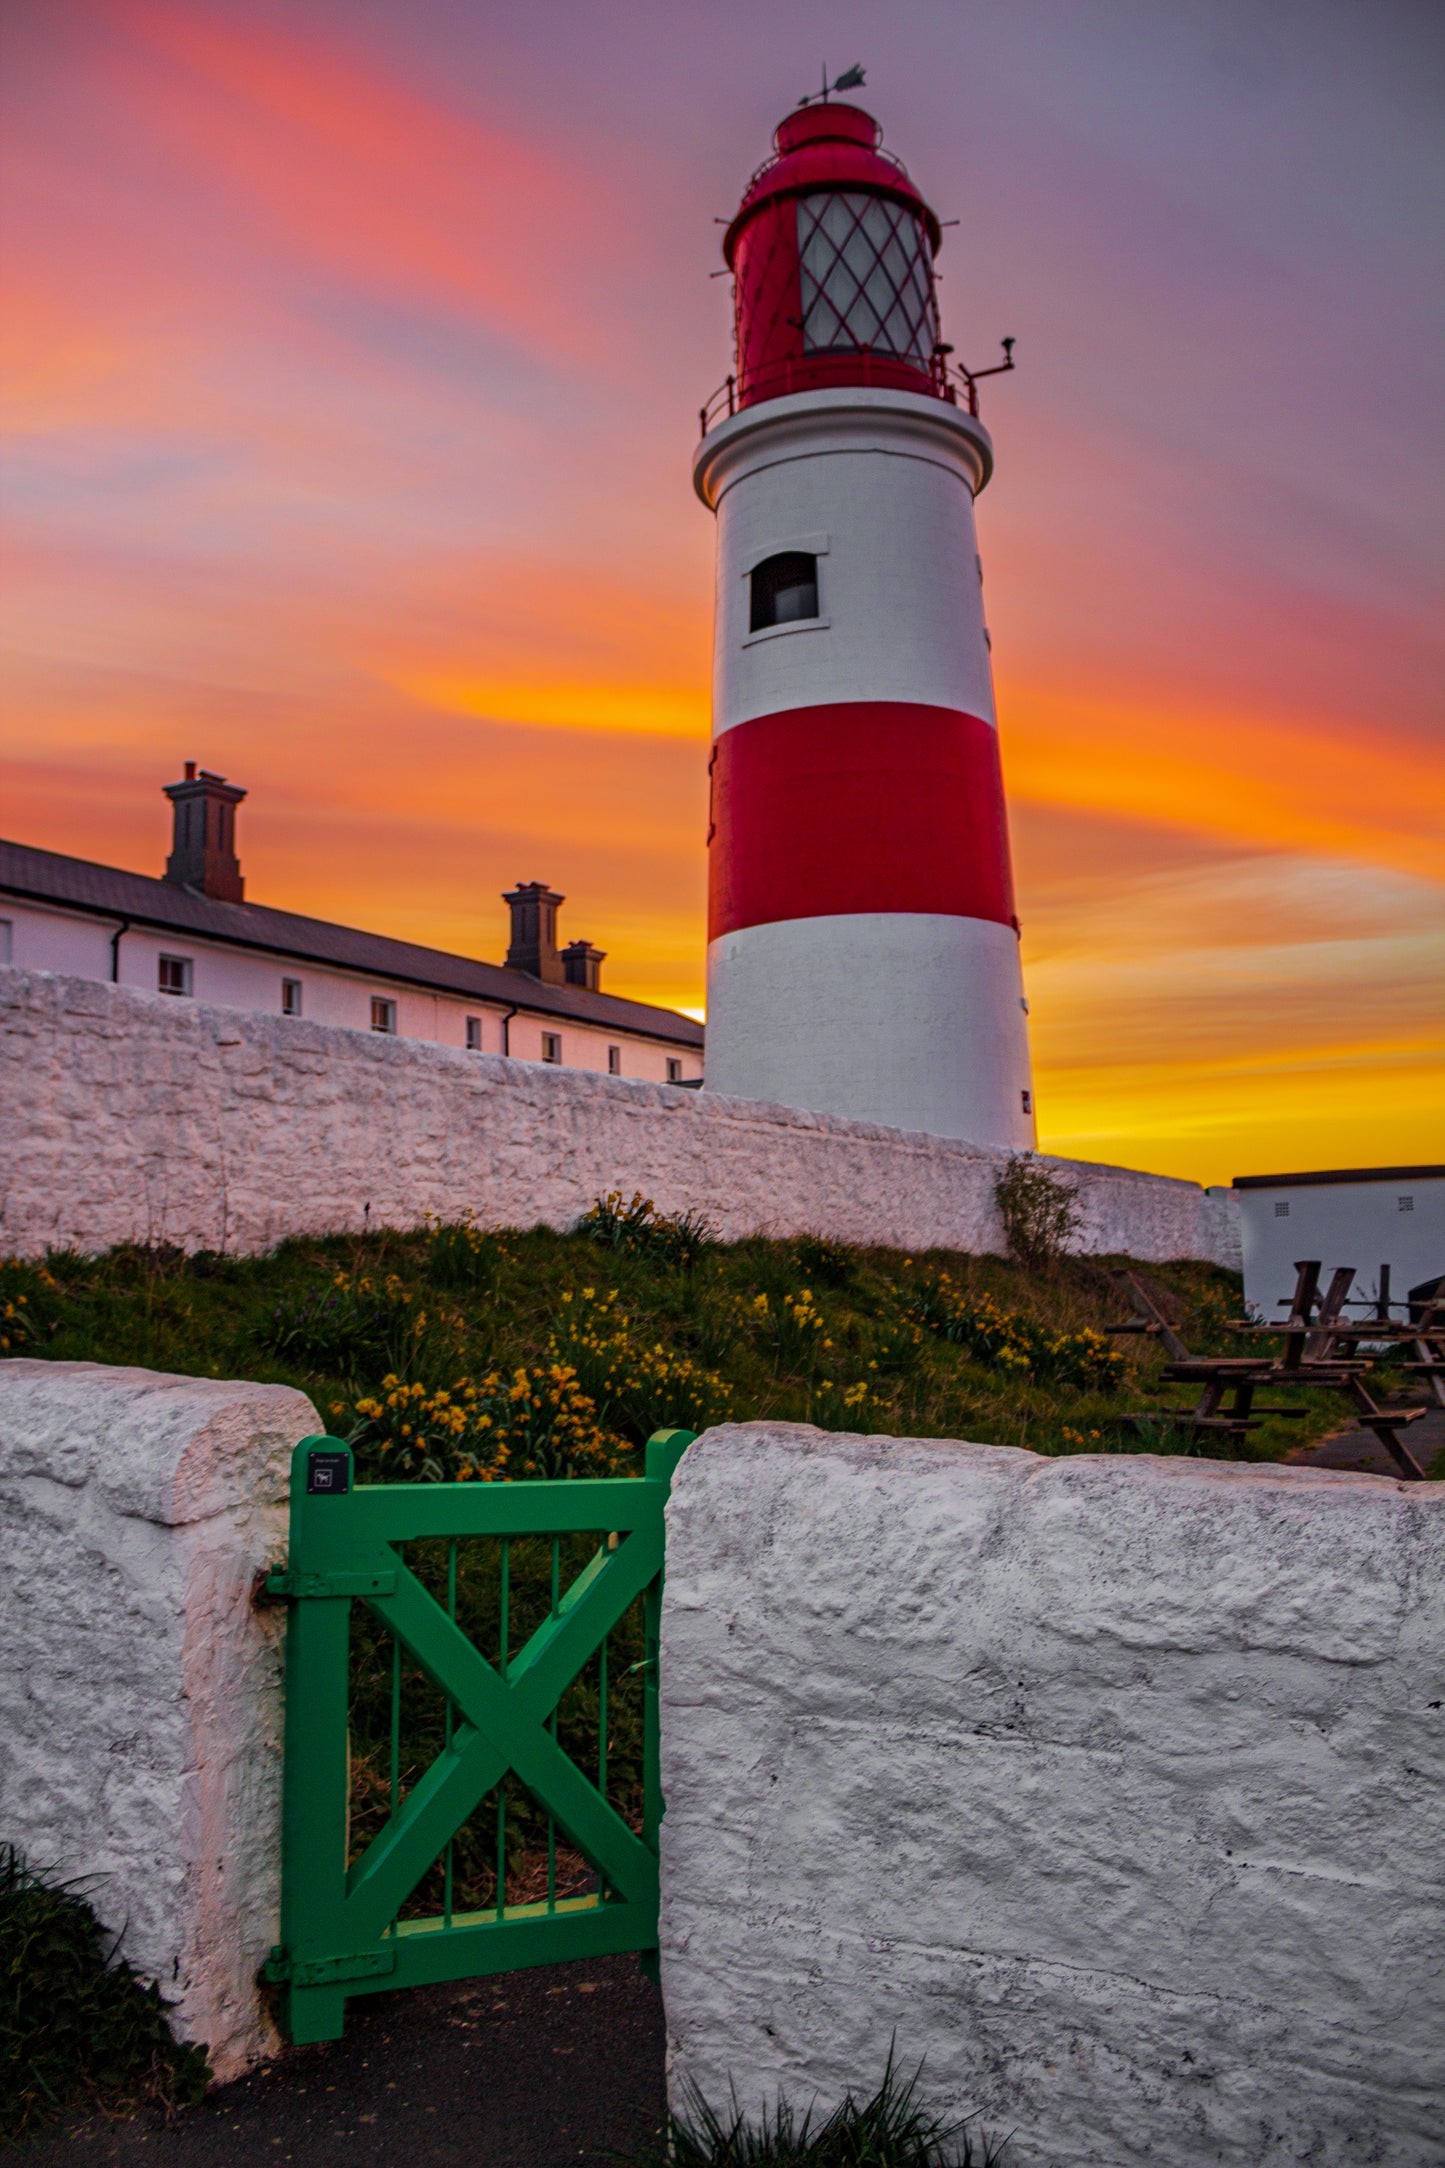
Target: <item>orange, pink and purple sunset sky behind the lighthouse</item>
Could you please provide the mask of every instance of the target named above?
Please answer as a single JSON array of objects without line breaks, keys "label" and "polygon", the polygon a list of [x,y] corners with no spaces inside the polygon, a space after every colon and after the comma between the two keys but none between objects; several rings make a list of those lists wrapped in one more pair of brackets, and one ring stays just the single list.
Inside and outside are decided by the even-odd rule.
[{"label": "orange, pink and purple sunset sky behind the lighthouse", "polygon": [[698,1006],[717,243],[797,95],[942,219],[1040,1143],[1445,1160],[1434,0],[9,0],[0,830]]}]

